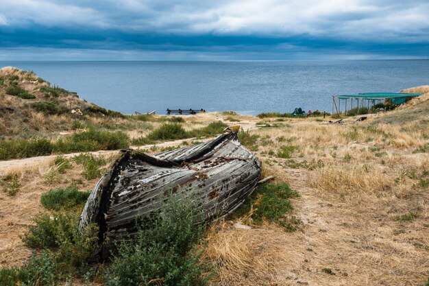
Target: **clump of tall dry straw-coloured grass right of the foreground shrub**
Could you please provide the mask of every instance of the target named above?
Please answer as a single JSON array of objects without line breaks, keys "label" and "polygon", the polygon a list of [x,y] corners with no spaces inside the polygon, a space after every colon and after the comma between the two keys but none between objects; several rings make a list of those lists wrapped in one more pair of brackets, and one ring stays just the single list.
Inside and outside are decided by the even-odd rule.
[{"label": "clump of tall dry straw-coloured grass right of the foreground shrub", "polygon": [[[219,222],[207,232],[204,261],[215,267],[213,285],[277,285],[288,258],[272,229],[240,229]],[[272,235],[272,236],[270,236]],[[278,265],[277,265],[278,264]]]}]

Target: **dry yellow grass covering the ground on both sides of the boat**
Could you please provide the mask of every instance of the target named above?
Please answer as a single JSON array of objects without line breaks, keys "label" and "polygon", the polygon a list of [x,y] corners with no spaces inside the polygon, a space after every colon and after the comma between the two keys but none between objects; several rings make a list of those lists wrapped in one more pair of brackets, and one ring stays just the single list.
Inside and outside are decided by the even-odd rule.
[{"label": "dry yellow grass covering the ground on both sides of the boat", "polygon": [[[274,182],[287,182],[301,194],[293,199],[293,215],[302,220],[302,230],[286,233],[270,224],[247,230],[228,219],[217,222],[206,235],[204,252],[205,263],[217,269],[212,285],[424,284],[429,275],[429,193],[419,185],[419,176],[429,171],[429,154],[413,151],[429,143],[427,115],[415,115],[427,104],[410,102],[402,110],[343,126],[288,119],[276,128],[254,128],[259,119],[237,117],[238,124],[259,136],[256,155],[264,176],[274,175]],[[226,117],[207,113],[184,119],[186,128],[193,129]],[[297,146],[291,158],[278,158],[278,150],[289,145]],[[10,170],[22,184],[16,197],[0,193],[5,205],[0,210],[3,266],[18,265],[29,255],[19,235],[41,211],[41,193],[65,186],[67,178],[79,178],[75,166],[49,186],[43,176],[50,166],[33,165],[31,174]],[[84,180],[79,189],[94,183]],[[410,213],[415,216],[401,219]]]}]

